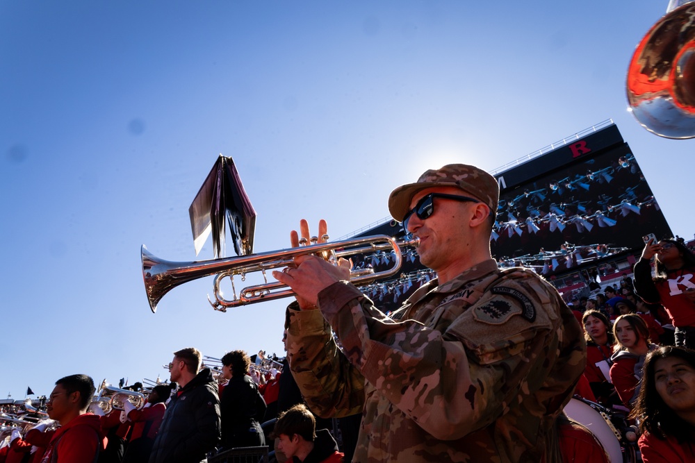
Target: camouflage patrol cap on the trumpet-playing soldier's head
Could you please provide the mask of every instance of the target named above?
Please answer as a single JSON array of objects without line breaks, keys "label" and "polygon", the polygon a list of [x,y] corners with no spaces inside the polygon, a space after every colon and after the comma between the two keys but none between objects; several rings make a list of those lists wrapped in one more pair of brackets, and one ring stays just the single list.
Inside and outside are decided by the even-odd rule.
[{"label": "camouflage patrol cap on the trumpet-playing soldier's head", "polygon": [[389,212],[394,219],[403,221],[410,210],[410,202],[418,192],[432,187],[458,187],[474,196],[497,213],[500,186],[497,180],[482,169],[466,164],[448,164],[441,169],[430,169],[416,183],[396,188],[389,196]]}]

